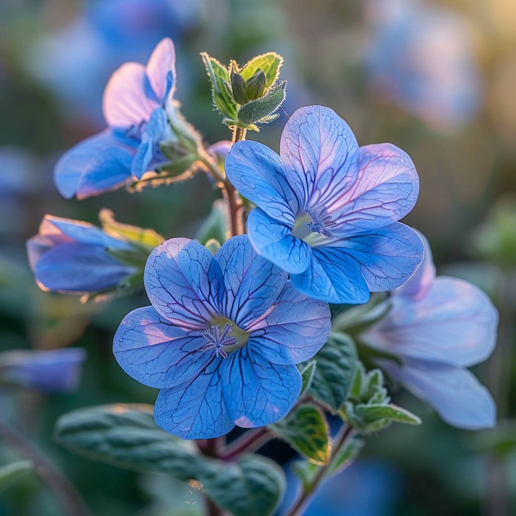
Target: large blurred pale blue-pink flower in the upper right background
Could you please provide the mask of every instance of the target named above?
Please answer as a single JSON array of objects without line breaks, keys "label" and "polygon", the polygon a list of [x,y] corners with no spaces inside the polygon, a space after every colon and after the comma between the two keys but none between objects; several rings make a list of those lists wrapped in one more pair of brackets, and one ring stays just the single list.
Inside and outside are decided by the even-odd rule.
[{"label": "large blurred pale blue-pink flower in the upper right background", "polygon": [[436,128],[471,120],[481,80],[459,15],[420,0],[368,0],[372,89]]}]

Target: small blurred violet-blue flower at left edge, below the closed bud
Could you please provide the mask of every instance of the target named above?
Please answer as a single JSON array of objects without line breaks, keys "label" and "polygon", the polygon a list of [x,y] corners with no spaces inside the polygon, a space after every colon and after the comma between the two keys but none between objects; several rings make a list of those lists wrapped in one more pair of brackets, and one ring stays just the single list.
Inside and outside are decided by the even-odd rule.
[{"label": "small blurred violet-blue flower at left edge, below the closed bud", "polygon": [[85,360],[83,348],[5,351],[0,353],[0,383],[48,393],[73,391]]}]

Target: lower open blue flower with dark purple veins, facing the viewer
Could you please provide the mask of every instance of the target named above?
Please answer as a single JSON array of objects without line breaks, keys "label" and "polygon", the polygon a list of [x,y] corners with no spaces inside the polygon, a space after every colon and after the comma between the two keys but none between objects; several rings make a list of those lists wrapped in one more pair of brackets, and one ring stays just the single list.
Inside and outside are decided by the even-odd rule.
[{"label": "lower open blue flower with dark purple veins, facing the viewer", "polygon": [[295,364],[330,331],[326,303],[299,294],[245,235],[215,257],[194,240],[167,240],[149,256],[144,283],[152,306],[123,319],[113,350],[128,375],[161,389],[160,427],[207,439],[287,414],[301,389]]}]

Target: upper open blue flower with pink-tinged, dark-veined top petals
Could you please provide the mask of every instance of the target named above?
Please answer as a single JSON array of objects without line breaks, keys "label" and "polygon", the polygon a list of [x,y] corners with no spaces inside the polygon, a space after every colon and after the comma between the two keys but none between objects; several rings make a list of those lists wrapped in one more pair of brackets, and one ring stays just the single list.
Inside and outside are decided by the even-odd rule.
[{"label": "upper open blue flower with pink-tinged, dark-veined top petals", "polygon": [[420,237],[397,222],[417,199],[410,157],[389,143],[359,148],[329,108],[297,110],[280,155],[254,141],[236,143],[225,171],[258,206],[247,222],[253,247],[303,294],[364,303],[369,291],[404,283],[423,259]]}]

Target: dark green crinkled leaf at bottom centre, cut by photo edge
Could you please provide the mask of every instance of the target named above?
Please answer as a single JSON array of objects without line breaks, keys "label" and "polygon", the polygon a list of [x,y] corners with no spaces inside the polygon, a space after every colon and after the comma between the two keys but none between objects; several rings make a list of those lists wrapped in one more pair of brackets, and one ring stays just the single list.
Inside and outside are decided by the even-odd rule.
[{"label": "dark green crinkled leaf at bottom centre, cut by photo edge", "polygon": [[212,500],[234,516],[268,516],[285,490],[285,476],[276,462],[244,455],[236,463],[206,462],[198,480]]}]

